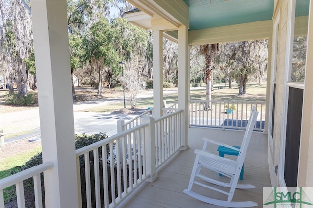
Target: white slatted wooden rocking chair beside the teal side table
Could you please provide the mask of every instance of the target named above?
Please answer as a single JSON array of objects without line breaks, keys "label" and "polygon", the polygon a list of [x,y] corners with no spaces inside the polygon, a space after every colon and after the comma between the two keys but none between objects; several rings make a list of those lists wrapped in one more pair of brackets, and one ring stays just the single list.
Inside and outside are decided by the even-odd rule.
[{"label": "white slatted wooden rocking chair beside the teal side table", "polygon": [[[248,124],[246,126],[245,135],[244,135],[240,149],[234,148],[233,146],[226,145],[226,144],[221,143],[219,141],[203,138],[203,140],[204,140],[203,149],[202,150],[199,150],[199,149],[195,150],[195,154],[196,154],[195,163],[194,163],[192,173],[190,176],[188,189],[185,189],[184,193],[188,194],[189,196],[191,196],[193,198],[201,200],[203,202],[213,204],[213,205],[223,206],[223,207],[243,208],[243,207],[254,207],[254,206],[258,205],[257,203],[252,202],[252,201],[241,201],[241,202],[232,201],[236,188],[239,188],[239,189],[255,188],[255,186],[253,186],[251,184],[237,184],[237,183],[238,183],[238,179],[239,179],[239,175],[240,175],[242,166],[244,164],[246,152],[247,152],[250,140],[251,140],[251,135],[252,135],[254,125],[256,123],[257,116],[258,116],[258,112],[256,111],[255,107],[253,107],[252,111],[251,111],[250,119],[249,119]],[[220,157],[216,154],[213,154],[213,153],[207,151],[206,147],[207,147],[208,143],[213,143],[216,145],[225,146],[225,147],[228,147],[230,149],[239,151],[237,160],[230,160],[230,159]],[[230,182],[225,183],[225,182],[215,180],[213,178],[209,178],[208,176],[203,175],[201,173],[202,167],[205,167],[209,170],[213,170],[217,173],[220,173],[220,174],[223,174],[224,176],[229,177]],[[205,182],[202,183],[199,181],[195,181],[195,177],[198,177],[198,178],[204,180]],[[209,182],[209,183],[217,185],[217,186],[212,187],[212,186],[208,185],[208,183],[206,183],[206,182]],[[219,199],[209,198],[209,197],[203,196],[199,193],[193,192],[191,190],[193,184],[197,184],[197,185],[200,185],[202,187],[206,187],[206,188],[218,191],[220,193],[226,194],[226,195],[228,195],[228,199],[227,200],[219,200]],[[229,192],[220,189],[219,186],[229,188]]]}]

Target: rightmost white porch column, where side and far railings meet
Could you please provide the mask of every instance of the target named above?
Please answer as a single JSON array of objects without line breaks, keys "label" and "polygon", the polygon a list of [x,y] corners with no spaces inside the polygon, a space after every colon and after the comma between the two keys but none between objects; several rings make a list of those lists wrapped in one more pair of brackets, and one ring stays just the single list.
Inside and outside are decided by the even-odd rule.
[{"label": "rightmost white porch column, where side and far railings meet", "polygon": [[178,28],[178,106],[184,110],[181,141],[185,149],[188,149],[189,80],[188,28],[181,25]]}]

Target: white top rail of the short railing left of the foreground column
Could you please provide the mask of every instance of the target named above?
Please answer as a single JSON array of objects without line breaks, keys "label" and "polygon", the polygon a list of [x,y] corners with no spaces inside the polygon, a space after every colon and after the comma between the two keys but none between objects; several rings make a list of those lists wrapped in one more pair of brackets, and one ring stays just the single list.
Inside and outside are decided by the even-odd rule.
[{"label": "white top rail of the short railing left of the foreground column", "polygon": [[20,183],[30,177],[33,177],[34,175],[38,175],[51,168],[53,168],[53,163],[45,162],[38,166],[31,167],[29,169],[23,170],[22,172],[3,178],[0,180],[1,190],[14,184]]}]

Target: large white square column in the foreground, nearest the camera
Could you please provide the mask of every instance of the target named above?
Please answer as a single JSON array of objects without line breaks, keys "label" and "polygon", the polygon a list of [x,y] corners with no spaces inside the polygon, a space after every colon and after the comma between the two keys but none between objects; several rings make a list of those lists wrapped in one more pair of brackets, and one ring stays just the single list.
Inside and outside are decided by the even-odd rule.
[{"label": "large white square column in the foreground, nearest the camera", "polygon": [[51,208],[77,208],[77,176],[67,2],[31,1],[43,162],[45,203]]}]

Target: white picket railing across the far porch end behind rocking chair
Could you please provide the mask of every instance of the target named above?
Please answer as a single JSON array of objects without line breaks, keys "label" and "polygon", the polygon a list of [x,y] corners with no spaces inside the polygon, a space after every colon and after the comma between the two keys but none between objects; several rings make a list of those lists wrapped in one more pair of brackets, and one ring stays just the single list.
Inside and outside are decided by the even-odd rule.
[{"label": "white picket railing across the far porch end behind rocking chair", "polygon": [[[210,104],[210,110],[204,110]],[[247,119],[252,106],[259,112],[254,130],[264,131],[265,102],[257,101],[190,101],[190,126],[208,126],[222,129],[246,129]],[[225,106],[233,106],[232,112],[226,112]]]}]

